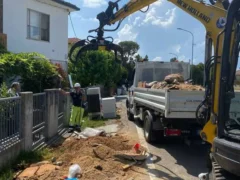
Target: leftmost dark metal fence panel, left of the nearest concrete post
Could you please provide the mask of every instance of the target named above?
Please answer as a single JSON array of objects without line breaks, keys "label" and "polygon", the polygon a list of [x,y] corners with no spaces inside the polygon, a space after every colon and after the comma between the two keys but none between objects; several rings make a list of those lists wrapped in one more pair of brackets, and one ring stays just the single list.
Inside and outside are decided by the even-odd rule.
[{"label": "leftmost dark metal fence panel, left of the nearest concrete post", "polygon": [[0,99],[0,153],[21,140],[21,98]]}]

